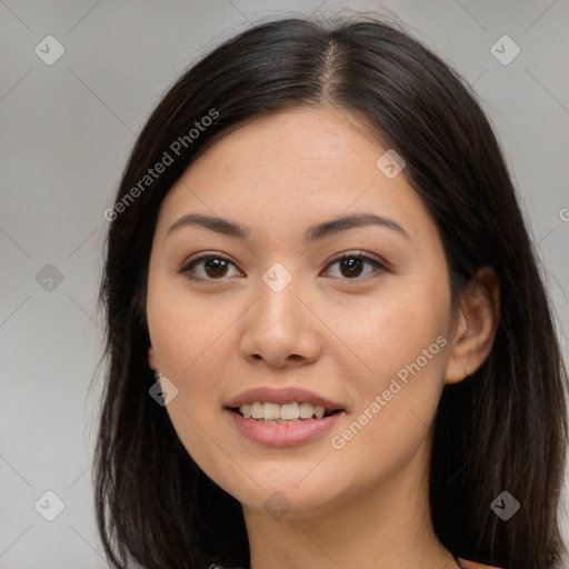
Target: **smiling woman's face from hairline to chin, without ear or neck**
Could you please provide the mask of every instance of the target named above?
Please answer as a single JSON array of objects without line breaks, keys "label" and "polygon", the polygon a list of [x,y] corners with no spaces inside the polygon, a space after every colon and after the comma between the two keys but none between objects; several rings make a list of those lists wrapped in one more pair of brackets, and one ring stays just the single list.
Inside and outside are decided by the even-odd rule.
[{"label": "smiling woman's face from hairline to chin, without ear or neck", "polygon": [[[166,409],[186,449],[243,507],[278,491],[302,516],[425,476],[450,290],[435,222],[387,150],[347,111],[278,112],[214,143],[162,202],[149,365],[178,390]],[[319,398],[337,412],[229,409],[312,416]]]}]

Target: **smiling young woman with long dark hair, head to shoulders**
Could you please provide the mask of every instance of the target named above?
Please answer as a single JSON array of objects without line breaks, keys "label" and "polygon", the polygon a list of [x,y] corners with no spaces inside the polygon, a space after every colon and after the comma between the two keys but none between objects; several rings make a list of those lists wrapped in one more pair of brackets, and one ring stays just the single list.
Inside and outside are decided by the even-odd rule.
[{"label": "smiling young woman with long dark hair, head to shoulders", "polygon": [[567,371],[475,96],[373,18],[192,66],[117,193],[113,567],[555,568]]}]

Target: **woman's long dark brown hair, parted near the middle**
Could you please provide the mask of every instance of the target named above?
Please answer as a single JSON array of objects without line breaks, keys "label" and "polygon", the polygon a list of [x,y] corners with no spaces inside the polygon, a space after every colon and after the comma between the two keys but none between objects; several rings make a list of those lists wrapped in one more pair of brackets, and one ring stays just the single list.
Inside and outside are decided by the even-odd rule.
[{"label": "woman's long dark brown hair, parted near the middle", "polygon": [[[359,113],[403,157],[405,176],[440,231],[453,301],[479,267],[492,267],[500,280],[492,350],[476,373],[445,388],[437,410],[430,469],[437,536],[475,561],[558,567],[567,370],[508,169],[466,81],[408,33],[368,16],[267,21],[224,41],[171,87],[134,144],[100,288],[108,369],[96,505],[109,561],[148,569],[249,566],[240,503],[194,463],[166,408],[149,396],[156,381],[147,359],[150,250],[162,199],[216,140],[272,111],[322,106]],[[212,110],[216,120],[202,121]],[[196,122],[203,129],[190,137]],[[173,161],[141,186],[164,153]],[[490,509],[505,490],[521,505],[508,521]]]}]

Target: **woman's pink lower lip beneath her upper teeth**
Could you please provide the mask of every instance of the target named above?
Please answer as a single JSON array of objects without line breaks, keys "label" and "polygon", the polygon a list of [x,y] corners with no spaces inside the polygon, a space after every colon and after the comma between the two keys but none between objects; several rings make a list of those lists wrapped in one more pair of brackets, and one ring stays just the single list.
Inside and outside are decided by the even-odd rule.
[{"label": "woman's pink lower lip beneath her upper teeth", "polygon": [[340,411],[322,419],[308,419],[298,422],[260,422],[247,419],[236,411],[226,409],[231,415],[237,428],[248,439],[270,447],[291,447],[316,439],[331,429],[345,413]]}]

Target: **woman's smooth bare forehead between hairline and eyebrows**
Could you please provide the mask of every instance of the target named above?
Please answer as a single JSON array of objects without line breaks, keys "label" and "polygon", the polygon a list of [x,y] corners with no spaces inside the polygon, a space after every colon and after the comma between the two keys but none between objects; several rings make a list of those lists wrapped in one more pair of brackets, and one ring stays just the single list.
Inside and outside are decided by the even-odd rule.
[{"label": "woman's smooth bare forehead between hairline and eyebrows", "polygon": [[160,218],[171,223],[201,212],[277,231],[353,210],[389,216],[411,234],[429,229],[429,213],[405,170],[388,178],[378,168],[387,150],[347,110],[263,116],[200,156],[166,197]]}]

